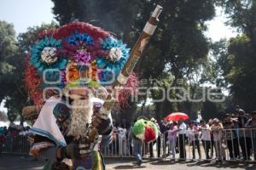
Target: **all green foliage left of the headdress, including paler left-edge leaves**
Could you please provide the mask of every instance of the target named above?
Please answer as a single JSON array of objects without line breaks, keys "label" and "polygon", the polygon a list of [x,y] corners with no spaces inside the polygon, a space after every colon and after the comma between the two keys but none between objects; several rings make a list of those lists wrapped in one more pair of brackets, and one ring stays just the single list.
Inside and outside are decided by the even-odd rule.
[{"label": "all green foliage left of the headdress, including paler left-edge leaves", "polygon": [[[4,26],[5,30],[3,29]],[[25,33],[20,34],[16,41],[13,26],[8,25],[4,21],[0,22],[0,37],[4,37],[3,40],[1,39],[0,44],[5,44],[0,54],[2,59],[0,65],[8,63],[8,65],[10,65],[9,67],[11,67],[11,70],[9,71],[0,71],[0,101],[2,101],[2,99],[6,100],[5,106],[8,108],[9,119],[13,120],[20,115],[22,122],[21,111],[22,108],[28,104],[26,88],[23,82],[23,73],[25,70],[25,59],[29,48],[36,40],[35,38],[37,38],[40,31],[54,28],[55,26],[57,26],[56,23],[52,22],[49,25],[43,24],[42,26],[30,27]],[[2,56],[5,58],[2,58]],[[1,69],[3,69],[2,66]]]}]

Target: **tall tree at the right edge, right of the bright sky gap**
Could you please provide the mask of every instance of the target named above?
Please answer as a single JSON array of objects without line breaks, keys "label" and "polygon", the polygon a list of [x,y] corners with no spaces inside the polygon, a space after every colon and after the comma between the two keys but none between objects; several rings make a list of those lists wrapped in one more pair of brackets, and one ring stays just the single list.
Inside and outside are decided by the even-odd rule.
[{"label": "tall tree at the right edge, right of the bright sky gap", "polygon": [[230,20],[241,35],[229,41],[217,42],[214,53],[221,71],[218,79],[226,88],[230,88],[233,104],[239,104],[247,111],[255,106],[256,82],[256,2],[254,0],[220,0]]}]

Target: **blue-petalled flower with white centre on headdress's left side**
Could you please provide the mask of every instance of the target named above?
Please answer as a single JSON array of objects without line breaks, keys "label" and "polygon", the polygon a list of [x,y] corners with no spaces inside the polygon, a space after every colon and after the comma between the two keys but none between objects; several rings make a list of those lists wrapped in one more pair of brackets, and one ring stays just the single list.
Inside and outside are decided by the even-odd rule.
[{"label": "blue-petalled flower with white centre on headdress's left side", "polygon": [[46,69],[64,69],[67,59],[58,56],[57,50],[61,48],[61,41],[54,37],[44,37],[31,49],[30,62],[42,74]]}]

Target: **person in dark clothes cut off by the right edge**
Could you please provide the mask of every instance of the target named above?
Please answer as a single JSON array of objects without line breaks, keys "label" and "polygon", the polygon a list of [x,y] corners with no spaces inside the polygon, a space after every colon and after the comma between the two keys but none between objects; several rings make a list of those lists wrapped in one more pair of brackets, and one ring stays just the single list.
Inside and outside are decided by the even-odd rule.
[{"label": "person in dark clothes cut off by the right edge", "polygon": [[247,122],[246,127],[251,128],[253,139],[253,158],[256,161],[256,111],[251,113],[252,118]]}]

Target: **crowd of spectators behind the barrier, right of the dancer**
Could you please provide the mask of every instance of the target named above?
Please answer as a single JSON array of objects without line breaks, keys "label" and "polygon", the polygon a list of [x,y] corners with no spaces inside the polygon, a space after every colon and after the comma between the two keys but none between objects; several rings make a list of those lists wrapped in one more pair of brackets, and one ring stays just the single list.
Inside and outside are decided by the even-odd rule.
[{"label": "crowd of spectators behind the barrier, right of the dancer", "polygon": [[[221,117],[221,116],[220,116]],[[177,122],[162,120],[159,123],[160,136],[146,145],[144,155],[154,157],[170,156],[171,161],[177,158],[185,161],[192,150],[191,159],[215,159],[216,161],[244,160],[256,161],[256,112],[247,114],[236,106],[236,112],[224,114],[224,118],[209,120]],[[255,129],[254,129],[255,128]],[[132,156],[131,133],[119,124],[113,128],[112,153],[119,156]],[[154,151],[154,148],[156,150]],[[148,149],[148,150],[147,150]],[[130,151],[129,151],[130,150]],[[178,153],[178,157],[176,156]]]}]

